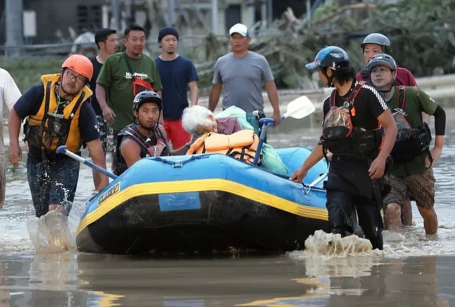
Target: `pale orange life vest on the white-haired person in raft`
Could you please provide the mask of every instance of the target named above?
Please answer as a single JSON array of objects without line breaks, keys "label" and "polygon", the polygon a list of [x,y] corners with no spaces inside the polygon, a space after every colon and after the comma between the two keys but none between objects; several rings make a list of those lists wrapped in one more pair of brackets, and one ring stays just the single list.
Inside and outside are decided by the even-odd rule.
[{"label": "pale orange life vest on the white-haired person in raft", "polygon": [[252,164],[258,144],[259,137],[253,130],[240,130],[230,135],[210,132],[196,139],[186,154],[225,154]]}]

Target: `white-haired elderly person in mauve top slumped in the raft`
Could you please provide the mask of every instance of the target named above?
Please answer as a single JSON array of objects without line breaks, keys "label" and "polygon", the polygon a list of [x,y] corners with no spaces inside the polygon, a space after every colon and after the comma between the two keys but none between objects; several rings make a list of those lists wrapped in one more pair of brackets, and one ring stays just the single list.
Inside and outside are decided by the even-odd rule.
[{"label": "white-haired elderly person in mauve top slumped in the raft", "polygon": [[194,105],[183,110],[182,126],[185,131],[196,136],[208,132],[219,134],[233,134],[242,130],[237,117],[215,118],[213,113],[206,107]]}]

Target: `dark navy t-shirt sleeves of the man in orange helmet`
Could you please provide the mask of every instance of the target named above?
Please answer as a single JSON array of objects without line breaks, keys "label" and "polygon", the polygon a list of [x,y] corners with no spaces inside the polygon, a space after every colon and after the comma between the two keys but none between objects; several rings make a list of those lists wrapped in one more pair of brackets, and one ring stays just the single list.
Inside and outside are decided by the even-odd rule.
[{"label": "dark navy t-shirt sleeves of the man in orange helmet", "polygon": [[[43,97],[43,83],[33,85],[26,90],[16,104],[14,104],[14,110],[21,119],[25,119],[28,115],[36,115],[40,110]],[[90,107],[90,103],[84,102],[80,107],[79,131],[80,136],[85,143],[100,139],[100,129],[98,127],[97,117],[95,112],[93,112],[92,107]]]}]

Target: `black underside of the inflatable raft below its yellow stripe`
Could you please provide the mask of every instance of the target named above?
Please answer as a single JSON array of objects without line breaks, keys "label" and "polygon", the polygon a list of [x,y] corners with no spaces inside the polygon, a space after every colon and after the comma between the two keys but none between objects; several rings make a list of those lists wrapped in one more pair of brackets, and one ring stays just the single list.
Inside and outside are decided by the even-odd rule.
[{"label": "black underside of the inflatable raft below its yellow stripe", "polygon": [[304,249],[305,239],[327,230],[314,220],[230,193],[200,193],[200,209],[161,211],[157,195],[132,198],[85,227],[81,252],[109,254],[232,252]]}]

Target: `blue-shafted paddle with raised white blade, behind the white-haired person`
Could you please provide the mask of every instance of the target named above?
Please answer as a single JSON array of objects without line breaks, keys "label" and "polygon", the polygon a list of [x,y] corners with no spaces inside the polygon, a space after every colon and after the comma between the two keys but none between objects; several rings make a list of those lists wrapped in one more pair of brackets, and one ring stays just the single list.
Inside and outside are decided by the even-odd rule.
[{"label": "blue-shafted paddle with raised white blade, behind the white-haired person", "polygon": [[[315,110],[316,108],[314,107],[314,104],[311,103],[311,100],[304,95],[287,104],[286,113],[282,115],[282,119],[286,119],[287,117],[302,119],[309,116],[309,114],[313,113]],[[261,153],[262,144],[264,144],[264,139],[267,135],[267,128],[275,124],[275,121],[271,118],[265,117],[259,119],[259,124],[262,124],[262,130],[261,135],[259,136],[259,144],[257,144],[253,166],[257,166],[257,162],[259,161],[259,154]]]}]

